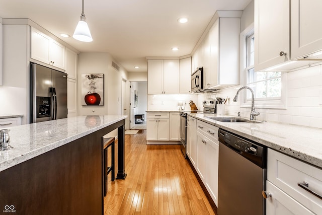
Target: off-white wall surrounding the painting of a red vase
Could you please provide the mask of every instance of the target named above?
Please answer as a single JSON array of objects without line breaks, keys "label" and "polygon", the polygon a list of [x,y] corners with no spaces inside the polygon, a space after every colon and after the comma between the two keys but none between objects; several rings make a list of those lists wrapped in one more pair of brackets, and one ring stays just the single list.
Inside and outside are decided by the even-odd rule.
[{"label": "off-white wall surrounding the painting of a red vase", "polygon": [[[127,80],[127,71],[119,64],[120,71],[112,67],[107,52],[82,52],[78,55],[78,115],[122,115],[122,77]],[[82,74],[104,74],[104,105],[82,106]],[[109,136],[116,136],[117,131]]]}]

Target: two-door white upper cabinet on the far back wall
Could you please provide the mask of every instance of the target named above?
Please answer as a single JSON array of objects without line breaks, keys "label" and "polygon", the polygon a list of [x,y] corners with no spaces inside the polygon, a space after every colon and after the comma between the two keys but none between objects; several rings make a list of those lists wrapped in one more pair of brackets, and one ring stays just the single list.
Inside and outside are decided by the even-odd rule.
[{"label": "two-door white upper cabinet on the far back wall", "polygon": [[149,59],[147,67],[148,94],[179,93],[179,59]]}]

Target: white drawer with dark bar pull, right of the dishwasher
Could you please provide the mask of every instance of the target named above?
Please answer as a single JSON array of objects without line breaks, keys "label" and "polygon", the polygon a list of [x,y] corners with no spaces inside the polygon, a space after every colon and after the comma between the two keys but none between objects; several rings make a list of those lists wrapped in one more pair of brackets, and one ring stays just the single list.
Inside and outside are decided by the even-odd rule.
[{"label": "white drawer with dark bar pull, right of the dishwasher", "polygon": [[302,161],[268,150],[267,179],[316,214],[322,214],[322,199],[298,186],[322,195],[322,170]]}]

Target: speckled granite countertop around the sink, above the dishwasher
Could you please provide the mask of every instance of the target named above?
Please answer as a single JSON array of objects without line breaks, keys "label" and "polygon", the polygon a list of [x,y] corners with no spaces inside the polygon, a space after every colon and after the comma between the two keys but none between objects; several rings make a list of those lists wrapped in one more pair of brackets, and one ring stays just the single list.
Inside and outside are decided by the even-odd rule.
[{"label": "speckled granite countertop around the sink, above the dishwasher", "polygon": [[322,129],[275,122],[228,123],[205,117],[214,114],[188,115],[322,168]]}]

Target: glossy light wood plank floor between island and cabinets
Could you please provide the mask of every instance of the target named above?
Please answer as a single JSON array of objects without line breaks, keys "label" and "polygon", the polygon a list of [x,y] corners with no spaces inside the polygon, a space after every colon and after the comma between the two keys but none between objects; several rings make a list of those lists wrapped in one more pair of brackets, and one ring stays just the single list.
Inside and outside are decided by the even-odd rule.
[{"label": "glossy light wood plank floor between island and cabinets", "polygon": [[214,214],[179,145],[146,145],[145,130],[126,134],[125,171],[125,180],[109,178],[104,214]]}]

